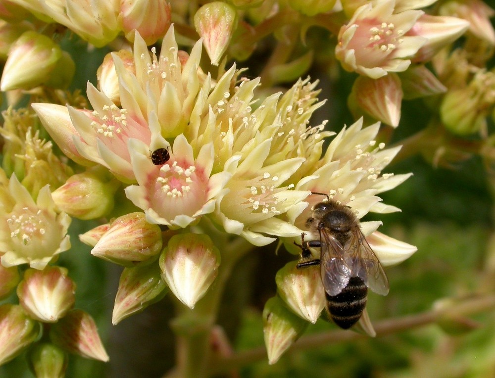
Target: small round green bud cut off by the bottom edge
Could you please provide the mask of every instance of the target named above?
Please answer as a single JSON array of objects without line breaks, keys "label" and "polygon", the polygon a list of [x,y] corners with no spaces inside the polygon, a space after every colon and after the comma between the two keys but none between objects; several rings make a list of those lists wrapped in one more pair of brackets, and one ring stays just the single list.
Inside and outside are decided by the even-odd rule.
[{"label": "small round green bud cut off by the bottom edge", "polygon": [[36,378],[64,378],[69,357],[50,343],[34,345],[28,352],[28,364]]}]

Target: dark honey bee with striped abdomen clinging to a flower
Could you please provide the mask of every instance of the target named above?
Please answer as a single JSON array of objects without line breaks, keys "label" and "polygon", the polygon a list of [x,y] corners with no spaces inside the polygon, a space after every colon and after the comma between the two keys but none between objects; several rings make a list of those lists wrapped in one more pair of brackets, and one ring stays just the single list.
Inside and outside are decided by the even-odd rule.
[{"label": "dark honey bee with striped abdomen clinging to a flower", "polygon": [[[306,241],[302,234],[301,257],[307,261],[298,263],[297,268],[320,265],[327,310],[335,324],[347,330],[366,307],[368,287],[387,295],[389,281],[349,207],[328,198],[314,206],[306,226],[318,231],[320,239]],[[319,259],[309,260],[312,247],[320,248]]]}]

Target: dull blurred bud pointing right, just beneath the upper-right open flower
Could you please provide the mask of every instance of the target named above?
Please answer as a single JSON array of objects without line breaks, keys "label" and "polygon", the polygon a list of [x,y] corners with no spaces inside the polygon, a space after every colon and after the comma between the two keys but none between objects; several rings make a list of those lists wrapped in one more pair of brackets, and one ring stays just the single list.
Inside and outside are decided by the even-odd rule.
[{"label": "dull blurred bud pointing right, just beneath the upper-right open flower", "polygon": [[424,65],[409,67],[400,74],[404,99],[426,97],[434,94],[442,94],[447,87]]}]

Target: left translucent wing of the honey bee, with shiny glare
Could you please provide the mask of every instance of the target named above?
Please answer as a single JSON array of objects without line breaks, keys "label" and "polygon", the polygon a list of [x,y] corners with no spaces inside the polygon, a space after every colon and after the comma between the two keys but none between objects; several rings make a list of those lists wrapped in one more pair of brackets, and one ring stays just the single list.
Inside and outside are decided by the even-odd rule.
[{"label": "left translucent wing of the honey bee, with shiny glare", "polygon": [[347,265],[342,244],[326,230],[320,230],[321,281],[328,295],[335,296],[347,286],[352,270]]}]

